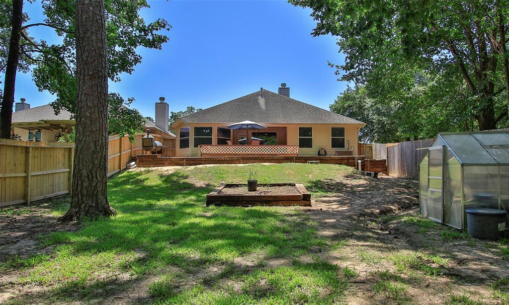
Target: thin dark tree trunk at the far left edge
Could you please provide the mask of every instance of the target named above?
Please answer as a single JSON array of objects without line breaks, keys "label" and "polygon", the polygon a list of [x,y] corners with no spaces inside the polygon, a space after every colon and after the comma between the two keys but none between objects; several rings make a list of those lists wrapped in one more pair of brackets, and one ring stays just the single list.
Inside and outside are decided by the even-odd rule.
[{"label": "thin dark tree trunk at the far left edge", "polygon": [[12,105],[14,103],[14,87],[16,85],[16,70],[19,60],[19,40],[23,23],[23,0],[12,1],[12,30],[9,42],[9,55],[5,71],[4,97],[0,110],[0,138],[11,138]]}]

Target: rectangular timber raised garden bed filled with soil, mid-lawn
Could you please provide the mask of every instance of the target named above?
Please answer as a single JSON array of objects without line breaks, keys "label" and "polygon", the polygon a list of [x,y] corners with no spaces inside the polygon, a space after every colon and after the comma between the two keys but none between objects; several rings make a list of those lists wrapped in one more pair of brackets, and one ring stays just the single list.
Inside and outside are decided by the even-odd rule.
[{"label": "rectangular timber raised garden bed filled with soil, mid-lawn", "polygon": [[207,206],[311,206],[311,194],[300,183],[259,184],[256,192],[248,192],[247,184],[220,184],[207,195]]}]

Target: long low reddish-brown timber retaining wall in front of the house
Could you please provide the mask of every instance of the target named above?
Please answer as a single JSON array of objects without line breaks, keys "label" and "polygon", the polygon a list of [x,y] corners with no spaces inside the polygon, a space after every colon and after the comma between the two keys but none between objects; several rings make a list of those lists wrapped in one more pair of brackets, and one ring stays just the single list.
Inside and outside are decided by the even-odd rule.
[{"label": "long low reddish-brown timber retaining wall in front of the house", "polygon": [[385,159],[364,159],[364,156],[223,156],[223,157],[159,157],[157,155],[138,155],[138,167],[191,166],[203,164],[249,164],[249,163],[307,163],[319,161],[326,164],[341,164],[358,168],[361,160],[362,170],[387,173]]}]

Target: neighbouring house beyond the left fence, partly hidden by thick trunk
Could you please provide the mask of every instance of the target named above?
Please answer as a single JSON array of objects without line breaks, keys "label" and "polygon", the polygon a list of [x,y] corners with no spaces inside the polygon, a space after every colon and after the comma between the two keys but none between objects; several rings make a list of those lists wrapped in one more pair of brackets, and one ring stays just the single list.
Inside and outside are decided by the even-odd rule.
[{"label": "neighbouring house beyond the left fence, partly hidden by thick trunk", "polygon": [[[63,134],[69,133],[76,124],[71,116],[67,110],[61,110],[56,115],[50,105],[30,108],[30,104],[21,99],[21,102],[16,103],[15,112],[12,114],[12,129],[22,141],[56,142]],[[144,132],[148,128],[151,134],[160,135],[162,139],[174,139],[175,135],[168,131],[168,104],[164,102],[164,98],[156,103],[156,122],[158,119],[159,124],[146,119]]]}]

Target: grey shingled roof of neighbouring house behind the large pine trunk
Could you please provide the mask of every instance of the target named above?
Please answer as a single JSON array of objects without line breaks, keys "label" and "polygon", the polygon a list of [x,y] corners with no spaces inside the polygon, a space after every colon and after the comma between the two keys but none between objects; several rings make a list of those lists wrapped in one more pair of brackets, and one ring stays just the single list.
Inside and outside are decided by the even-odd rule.
[{"label": "grey shingled roof of neighbouring house behind the large pine trunk", "polygon": [[[60,110],[59,115],[55,114],[53,107],[51,105],[43,105],[38,106],[26,110],[20,110],[12,113],[12,123],[34,123],[39,121],[47,121],[47,120],[73,120],[71,118],[72,113],[62,109]],[[166,133],[164,130],[160,129],[156,126],[156,124],[145,118],[145,123],[143,124],[145,127],[157,129],[162,133]],[[175,134],[168,131],[168,135],[175,137]]]}]

